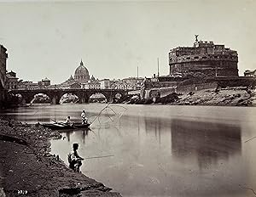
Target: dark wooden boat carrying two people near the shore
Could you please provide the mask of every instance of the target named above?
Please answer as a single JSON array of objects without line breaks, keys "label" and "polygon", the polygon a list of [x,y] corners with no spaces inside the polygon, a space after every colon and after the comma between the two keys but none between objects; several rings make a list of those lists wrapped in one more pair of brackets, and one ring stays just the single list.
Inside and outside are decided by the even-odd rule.
[{"label": "dark wooden boat carrying two people near the shore", "polygon": [[64,122],[55,122],[55,123],[43,123],[43,127],[47,127],[53,130],[64,130],[64,129],[81,129],[81,128],[89,128],[90,123],[82,124],[80,122],[73,122],[72,125],[67,125]]}]

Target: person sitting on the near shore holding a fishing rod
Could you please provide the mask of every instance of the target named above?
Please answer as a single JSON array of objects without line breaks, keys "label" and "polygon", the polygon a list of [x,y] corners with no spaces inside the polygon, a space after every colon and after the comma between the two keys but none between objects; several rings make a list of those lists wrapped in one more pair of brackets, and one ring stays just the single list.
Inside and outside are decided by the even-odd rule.
[{"label": "person sitting on the near shore holding a fishing rod", "polygon": [[80,157],[78,154],[79,144],[73,144],[73,152],[67,155],[67,160],[69,162],[69,167],[73,169],[74,172],[80,172],[80,166],[82,166],[82,160],[84,158]]}]

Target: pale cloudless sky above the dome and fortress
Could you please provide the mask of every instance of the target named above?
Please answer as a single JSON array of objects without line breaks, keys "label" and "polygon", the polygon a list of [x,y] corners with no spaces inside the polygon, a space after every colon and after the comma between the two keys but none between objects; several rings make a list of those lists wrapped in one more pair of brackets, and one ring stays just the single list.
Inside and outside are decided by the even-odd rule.
[{"label": "pale cloudless sky above the dome and fortress", "polygon": [[67,80],[83,59],[90,76],[169,74],[168,53],[199,40],[238,52],[240,76],[256,69],[256,1],[2,1],[0,44],[20,79]]}]

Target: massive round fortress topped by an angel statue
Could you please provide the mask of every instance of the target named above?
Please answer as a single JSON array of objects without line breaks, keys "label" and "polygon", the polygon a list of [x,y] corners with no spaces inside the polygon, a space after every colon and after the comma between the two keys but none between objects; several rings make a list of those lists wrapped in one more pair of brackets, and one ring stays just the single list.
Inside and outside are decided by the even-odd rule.
[{"label": "massive round fortress topped by an angel statue", "polygon": [[170,50],[170,76],[238,76],[238,54],[224,45],[198,41]]}]

